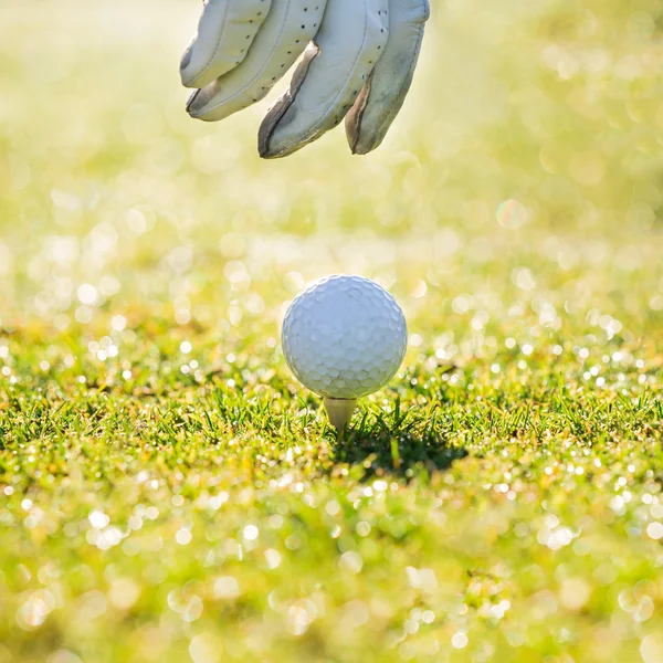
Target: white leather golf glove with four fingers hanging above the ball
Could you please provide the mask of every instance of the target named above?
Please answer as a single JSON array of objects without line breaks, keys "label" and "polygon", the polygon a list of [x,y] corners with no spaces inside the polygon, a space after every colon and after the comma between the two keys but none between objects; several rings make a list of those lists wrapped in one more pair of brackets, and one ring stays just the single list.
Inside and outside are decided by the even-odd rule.
[{"label": "white leather golf glove with four fingers hanging above the ball", "polygon": [[185,53],[191,117],[213,122],[262,99],[304,53],[259,134],[285,157],[345,117],[350,149],[378,147],[412,82],[428,0],[206,0]]}]

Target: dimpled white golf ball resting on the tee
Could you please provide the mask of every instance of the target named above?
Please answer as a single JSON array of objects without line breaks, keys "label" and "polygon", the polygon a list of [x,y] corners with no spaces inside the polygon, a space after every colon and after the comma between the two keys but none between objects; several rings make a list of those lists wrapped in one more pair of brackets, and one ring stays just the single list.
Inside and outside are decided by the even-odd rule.
[{"label": "dimpled white golf ball resting on the tee", "polygon": [[396,299],[362,276],[327,276],[291,304],[283,320],[285,359],[325,398],[356,399],[383,387],[406,355],[408,326]]}]

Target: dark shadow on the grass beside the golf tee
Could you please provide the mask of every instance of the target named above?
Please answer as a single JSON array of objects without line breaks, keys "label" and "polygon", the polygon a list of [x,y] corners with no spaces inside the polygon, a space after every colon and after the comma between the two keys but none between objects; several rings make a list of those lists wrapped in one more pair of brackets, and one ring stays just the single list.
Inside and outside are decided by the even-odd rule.
[{"label": "dark shadow on the grass beside the golf tee", "polygon": [[366,478],[385,474],[412,478],[422,472],[431,475],[467,455],[463,446],[445,439],[442,429],[438,410],[413,408],[403,412],[399,402],[390,414],[365,410],[360,423],[337,436],[334,460],[351,465]]}]

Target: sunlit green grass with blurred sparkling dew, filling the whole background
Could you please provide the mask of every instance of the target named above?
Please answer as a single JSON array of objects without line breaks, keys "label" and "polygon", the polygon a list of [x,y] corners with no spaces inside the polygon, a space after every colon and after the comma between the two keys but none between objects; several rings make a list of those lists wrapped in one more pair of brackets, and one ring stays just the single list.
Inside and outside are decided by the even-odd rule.
[{"label": "sunlit green grass with blurred sparkling dew, filling the whole background", "polygon": [[[189,2],[3,7],[1,663],[663,660],[663,14],[520,4],[274,164]],[[332,272],[410,326],[340,440],[278,345]]]}]

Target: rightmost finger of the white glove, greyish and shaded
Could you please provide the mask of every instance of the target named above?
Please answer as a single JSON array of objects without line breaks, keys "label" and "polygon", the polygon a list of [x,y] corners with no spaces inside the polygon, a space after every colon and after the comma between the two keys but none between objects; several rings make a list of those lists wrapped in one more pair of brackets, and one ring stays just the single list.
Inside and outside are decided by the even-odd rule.
[{"label": "rightmost finger of the white glove, greyish and shaded", "polygon": [[391,0],[389,42],[346,117],[350,149],[366,155],[383,140],[412,83],[430,15],[428,0]]}]

